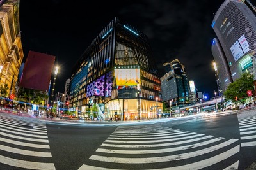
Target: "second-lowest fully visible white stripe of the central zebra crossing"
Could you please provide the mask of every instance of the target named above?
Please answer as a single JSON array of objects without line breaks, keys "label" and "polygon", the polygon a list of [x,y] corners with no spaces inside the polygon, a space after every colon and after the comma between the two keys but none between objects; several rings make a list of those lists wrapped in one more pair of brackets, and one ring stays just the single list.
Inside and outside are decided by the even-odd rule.
[{"label": "second-lowest fully visible white stripe of the central zebra crossing", "polygon": [[103,148],[98,148],[96,152],[104,152],[104,153],[117,153],[117,154],[150,154],[150,153],[165,153],[165,152],[175,152],[178,150],[188,150],[191,148],[196,148],[199,146],[204,146],[208,145],[210,143],[214,143],[216,141],[220,141],[221,139],[225,138],[215,138],[211,139],[209,141],[204,141],[200,143],[195,143],[192,145],[186,145],[186,146],[180,146],[180,147],[175,147],[175,148],[164,148],[164,149],[158,149],[158,150],[113,150],[113,149],[103,149]]}]

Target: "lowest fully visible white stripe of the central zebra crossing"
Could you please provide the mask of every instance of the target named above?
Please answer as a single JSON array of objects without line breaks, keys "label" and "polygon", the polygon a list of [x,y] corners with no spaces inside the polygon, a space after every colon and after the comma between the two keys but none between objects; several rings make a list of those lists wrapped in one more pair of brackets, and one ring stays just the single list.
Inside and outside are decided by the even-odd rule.
[{"label": "lowest fully visible white stripe of the central zebra crossing", "polygon": [[[195,152],[188,152],[178,155],[168,155],[164,157],[147,157],[147,158],[125,158],[125,157],[106,157],[100,155],[92,155],[89,159],[96,160],[100,162],[112,162],[112,163],[120,163],[122,164],[147,164],[147,163],[157,163],[157,162],[170,162],[172,160],[182,160],[189,159],[191,157],[197,157],[198,155],[204,155],[206,153],[213,152],[215,150],[219,150],[227,145],[230,145],[236,142],[237,139],[230,139],[218,145],[211,146],[209,148],[204,148],[202,150],[197,150]],[[238,145],[239,146],[239,145]],[[240,147],[240,146],[239,146]]]}]

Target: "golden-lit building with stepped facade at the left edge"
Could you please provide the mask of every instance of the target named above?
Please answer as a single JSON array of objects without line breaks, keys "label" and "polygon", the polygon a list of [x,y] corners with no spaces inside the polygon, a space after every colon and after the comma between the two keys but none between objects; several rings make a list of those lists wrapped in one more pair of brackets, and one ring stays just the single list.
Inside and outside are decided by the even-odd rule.
[{"label": "golden-lit building with stepped facade at the left edge", "polygon": [[0,85],[8,87],[7,96],[3,97],[15,94],[24,57],[20,37],[19,4],[19,0],[0,1]]}]

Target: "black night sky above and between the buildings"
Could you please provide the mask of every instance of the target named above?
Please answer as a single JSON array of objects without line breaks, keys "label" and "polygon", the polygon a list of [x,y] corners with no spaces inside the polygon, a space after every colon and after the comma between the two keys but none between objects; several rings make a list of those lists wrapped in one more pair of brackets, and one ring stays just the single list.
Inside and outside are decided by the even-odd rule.
[{"label": "black night sky above and between the buildings", "polygon": [[[224,0],[20,1],[24,56],[29,50],[56,56],[56,92],[64,92],[71,69],[106,25],[118,17],[150,39],[160,76],[179,59],[199,92],[218,91],[211,53],[214,13]],[[25,58],[24,57],[24,58]]]}]

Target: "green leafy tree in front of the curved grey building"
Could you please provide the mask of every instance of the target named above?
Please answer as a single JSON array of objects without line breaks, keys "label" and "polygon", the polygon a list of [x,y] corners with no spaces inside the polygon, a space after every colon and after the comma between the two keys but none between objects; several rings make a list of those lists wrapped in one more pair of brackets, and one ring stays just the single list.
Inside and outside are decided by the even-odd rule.
[{"label": "green leafy tree in front of the curved grey building", "polygon": [[244,104],[248,90],[253,90],[253,75],[250,73],[243,73],[241,77],[238,78],[233,83],[230,83],[227,90],[223,93],[226,101],[232,101],[232,103],[237,103],[240,101]]}]

